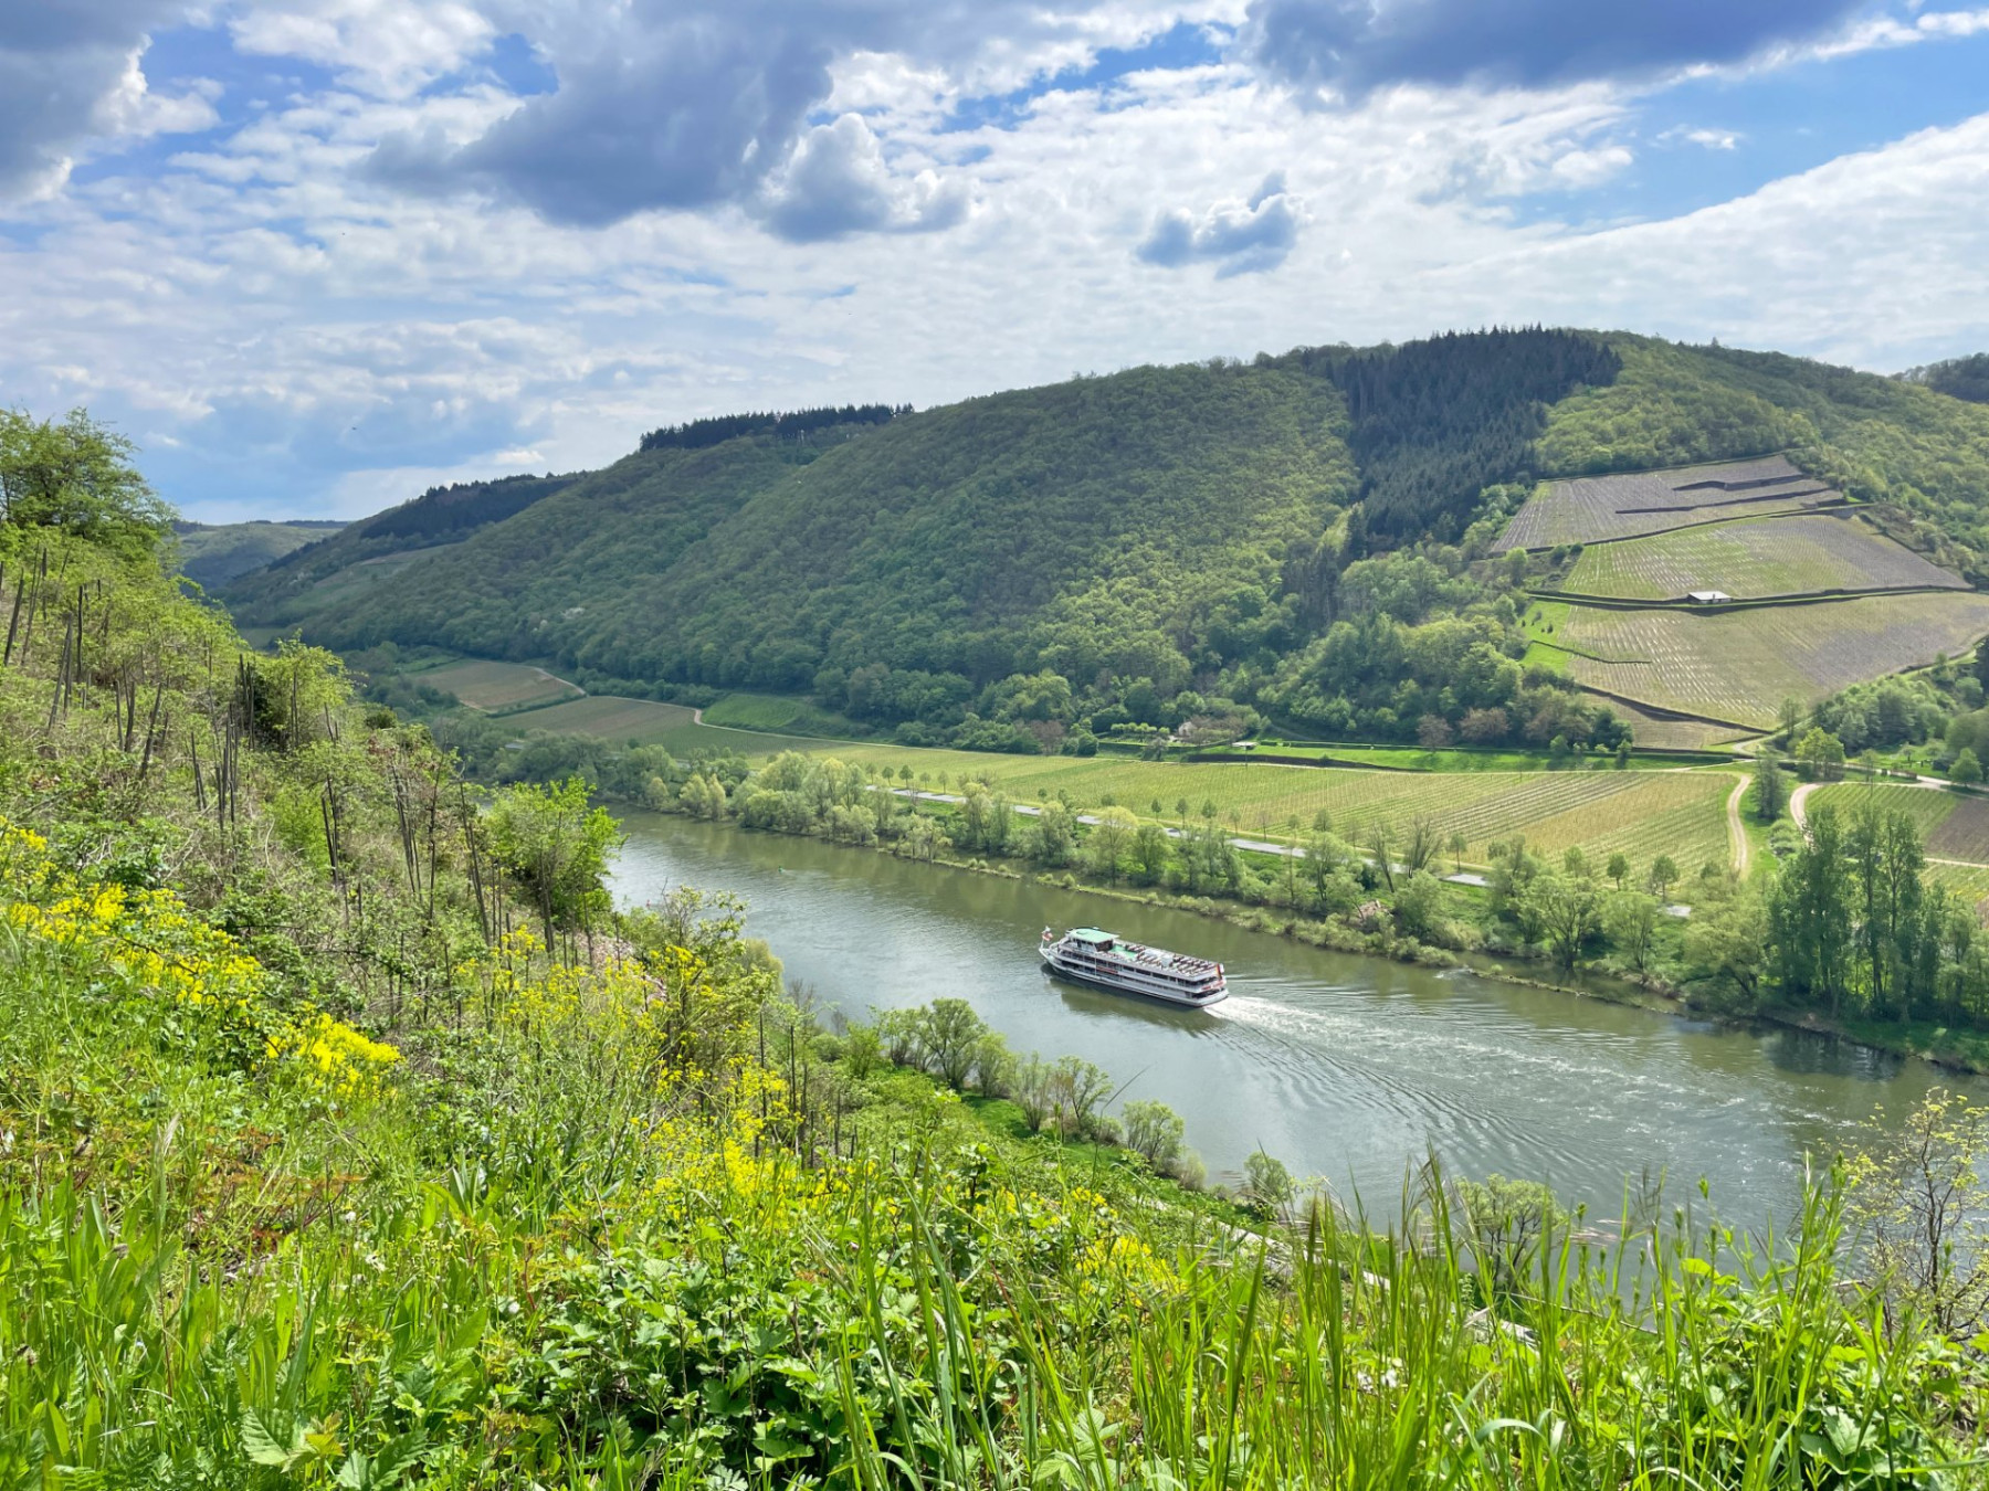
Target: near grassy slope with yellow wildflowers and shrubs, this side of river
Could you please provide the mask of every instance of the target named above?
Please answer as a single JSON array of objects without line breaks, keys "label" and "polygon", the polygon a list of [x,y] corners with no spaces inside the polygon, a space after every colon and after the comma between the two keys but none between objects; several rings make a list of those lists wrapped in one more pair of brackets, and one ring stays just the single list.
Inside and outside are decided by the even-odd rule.
[{"label": "near grassy slope with yellow wildflowers and shrubs, this side of river", "polygon": [[1959,1101],[1758,1248],[1434,1169],[1287,1229],[1269,1157],[1237,1205],[1162,1179],[1156,1105],[1066,1149],[1110,1079],[959,1002],[829,1032],[724,901],[613,912],[579,783],[469,811],[161,539],[135,477],[0,523],[4,1483],[1794,1491],[1981,1453],[1985,1276],[1913,1211],[1973,1199]]}]

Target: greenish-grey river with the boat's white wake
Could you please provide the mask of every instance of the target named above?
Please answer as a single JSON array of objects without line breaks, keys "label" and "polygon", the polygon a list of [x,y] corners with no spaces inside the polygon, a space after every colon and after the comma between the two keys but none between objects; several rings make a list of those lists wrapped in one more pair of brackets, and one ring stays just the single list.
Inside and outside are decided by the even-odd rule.
[{"label": "greenish-grey river with the boat's white wake", "polygon": [[[1452,1173],[1547,1181],[1605,1217],[1645,1175],[1703,1207],[1705,1179],[1720,1217],[1758,1229],[1788,1217],[1804,1155],[1828,1163],[1876,1105],[1898,1113],[1957,1081],[1828,1036],[1323,952],[814,839],[646,813],[625,829],[621,903],[672,885],[732,891],[788,978],[857,1018],[965,998],[1014,1050],[1088,1058],[1126,1097],[1174,1105],[1213,1179],[1263,1147],[1341,1197],[1392,1209],[1406,1169],[1436,1153]],[[1229,1000],[1175,1012],[1052,982],[1036,958],[1042,926],[1094,922],[1217,958]],[[1961,1081],[1989,1101],[1989,1083]]]}]

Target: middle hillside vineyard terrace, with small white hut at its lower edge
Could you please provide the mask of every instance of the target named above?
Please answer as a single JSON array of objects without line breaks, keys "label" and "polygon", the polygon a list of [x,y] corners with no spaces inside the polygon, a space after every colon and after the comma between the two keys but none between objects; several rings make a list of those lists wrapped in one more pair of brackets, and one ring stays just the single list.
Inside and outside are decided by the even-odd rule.
[{"label": "middle hillside vineyard terrace, with small white hut at its lower edge", "polygon": [[1814,590],[1965,590],[1967,580],[1844,515],[1764,517],[1679,529],[1585,549],[1563,590],[1625,600],[1679,600],[1724,590],[1740,600]]}]

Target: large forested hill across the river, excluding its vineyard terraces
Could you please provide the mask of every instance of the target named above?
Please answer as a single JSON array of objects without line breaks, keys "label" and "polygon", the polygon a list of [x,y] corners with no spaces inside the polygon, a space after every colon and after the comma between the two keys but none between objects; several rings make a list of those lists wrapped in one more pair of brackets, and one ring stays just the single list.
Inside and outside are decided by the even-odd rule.
[{"label": "large forested hill across the river, excluding its vineyard terraces", "polygon": [[1486,740],[1607,744],[1593,698],[1518,662],[1530,577],[1492,555],[1536,479],[1788,451],[1969,579],[1989,551],[1989,410],[1627,334],[1301,348],[821,414],[823,431],[656,431],[420,553],[380,549],[396,509],[225,598],[312,640],[551,660],[617,692],[808,692],[915,742],[1251,710],[1414,736],[1476,710]]}]

